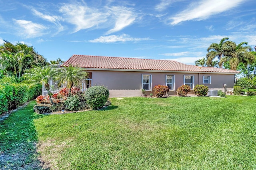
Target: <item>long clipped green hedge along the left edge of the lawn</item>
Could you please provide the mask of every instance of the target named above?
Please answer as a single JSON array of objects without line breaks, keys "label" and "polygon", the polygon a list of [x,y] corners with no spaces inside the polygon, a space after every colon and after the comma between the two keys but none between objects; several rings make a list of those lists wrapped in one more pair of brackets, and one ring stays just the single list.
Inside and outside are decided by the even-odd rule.
[{"label": "long clipped green hedge along the left edge of the lawn", "polygon": [[40,95],[42,85],[30,84],[1,84],[0,85],[0,114],[15,109],[16,107]]}]

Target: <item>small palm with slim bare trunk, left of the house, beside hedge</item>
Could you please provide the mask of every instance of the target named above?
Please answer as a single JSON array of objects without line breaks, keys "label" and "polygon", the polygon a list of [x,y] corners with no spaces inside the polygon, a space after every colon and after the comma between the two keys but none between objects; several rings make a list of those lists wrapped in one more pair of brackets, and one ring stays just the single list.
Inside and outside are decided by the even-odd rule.
[{"label": "small palm with slim bare trunk, left of the house, beside hedge", "polygon": [[28,82],[32,84],[37,84],[38,82],[45,86],[48,95],[50,96],[51,104],[52,102],[52,92],[50,92],[49,80],[51,78],[56,78],[58,76],[56,68],[50,67],[34,67],[32,69],[25,70],[25,73],[22,75],[23,82]]}]

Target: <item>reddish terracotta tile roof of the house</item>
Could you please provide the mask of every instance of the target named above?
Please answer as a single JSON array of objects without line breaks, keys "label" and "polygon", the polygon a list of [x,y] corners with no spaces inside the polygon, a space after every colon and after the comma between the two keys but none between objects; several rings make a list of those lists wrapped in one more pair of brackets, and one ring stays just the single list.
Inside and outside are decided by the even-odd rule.
[{"label": "reddish terracotta tile roof of the house", "polygon": [[78,66],[82,68],[105,68],[127,70],[166,70],[191,72],[226,72],[238,74],[239,71],[215,67],[199,67],[170,60],[134,59],[123,57],[101,57],[90,55],[72,55],[62,66]]}]

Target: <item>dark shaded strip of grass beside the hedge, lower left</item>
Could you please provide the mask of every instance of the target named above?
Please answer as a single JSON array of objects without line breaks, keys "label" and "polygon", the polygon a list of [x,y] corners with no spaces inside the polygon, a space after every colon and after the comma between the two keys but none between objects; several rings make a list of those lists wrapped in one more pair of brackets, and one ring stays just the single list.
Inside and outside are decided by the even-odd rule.
[{"label": "dark shaded strip of grass beside the hedge, lower left", "polygon": [[0,169],[45,170],[44,162],[38,159],[36,152],[38,141],[34,119],[44,115],[34,113],[35,102],[18,109],[6,119],[0,121]]}]

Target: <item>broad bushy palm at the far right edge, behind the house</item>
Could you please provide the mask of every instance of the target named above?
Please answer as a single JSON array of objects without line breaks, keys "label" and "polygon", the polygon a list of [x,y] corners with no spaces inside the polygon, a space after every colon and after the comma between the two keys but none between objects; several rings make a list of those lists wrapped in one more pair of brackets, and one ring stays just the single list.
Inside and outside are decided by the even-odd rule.
[{"label": "broad bushy palm at the far right edge, behind the house", "polygon": [[236,45],[236,43],[232,41],[226,41],[224,43],[224,50],[226,51],[224,61],[229,61],[231,70],[236,70],[239,63],[247,65],[255,61],[255,56],[250,53],[252,47],[248,46],[247,42]]}]

